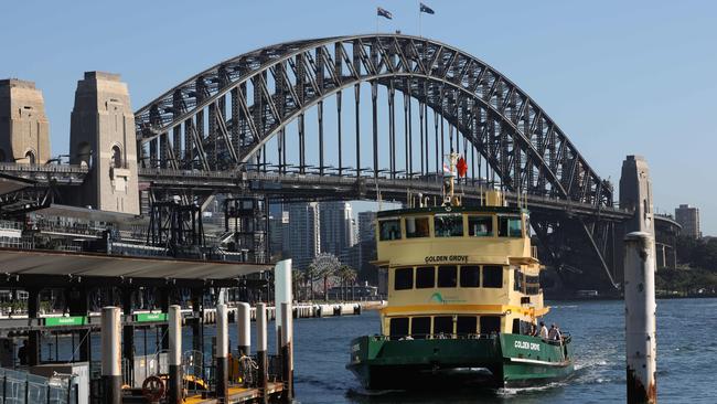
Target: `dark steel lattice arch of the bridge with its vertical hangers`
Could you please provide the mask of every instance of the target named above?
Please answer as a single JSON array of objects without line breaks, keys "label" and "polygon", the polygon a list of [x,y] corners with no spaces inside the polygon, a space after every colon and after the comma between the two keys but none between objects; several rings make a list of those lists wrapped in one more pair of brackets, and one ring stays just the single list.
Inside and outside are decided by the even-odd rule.
[{"label": "dark steel lattice arch of the bridge with its vertical hangers", "polygon": [[[384,86],[388,89],[390,109],[395,107],[395,93],[403,93],[404,108],[410,105],[406,104],[408,98],[420,103],[421,126],[430,107],[457,128],[497,174],[505,190],[565,201],[566,206],[578,203],[595,209],[598,213],[590,220],[585,215],[566,220],[567,216],[556,219],[554,213],[537,213],[534,228],[554,246],[574,243],[576,232],[580,233],[584,242],[587,240],[587,248],[597,253],[599,266],[613,280],[606,255],[611,248],[611,224],[616,220],[600,217],[602,210],[614,208],[611,184],[600,179],[557,124],[510,79],[477,57],[424,38],[372,34],[288,42],[212,66],[136,113],[140,167],[146,172],[192,170],[200,176],[246,171],[253,159],[258,161],[263,152],[266,156],[265,145],[270,139],[278,137],[281,148],[286,126],[298,120],[299,170],[304,173],[304,114],[315,106],[323,114],[322,102],[335,94],[341,116],[342,92],[354,87],[356,134],[362,132],[357,116],[360,86],[364,83],[372,88],[373,139],[368,140],[373,142],[375,179],[383,176],[378,167],[376,93],[378,86]],[[410,116],[410,108],[404,113]],[[395,118],[393,111],[389,114],[388,177],[396,179],[399,171],[395,166]],[[319,134],[322,141],[321,128]],[[363,137],[357,136],[356,141]],[[422,174],[424,145],[420,146]],[[408,145],[404,148],[408,150]],[[358,145],[356,150],[355,170],[342,172],[339,160],[340,176],[363,176]],[[425,150],[428,166],[428,145]],[[437,145],[435,151],[438,160]],[[281,161],[279,151],[279,171],[283,167],[286,174],[286,145],[283,155]],[[410,164],[413,158],[413,150],[410,157],[406,151]],[[321,146],[319,159],[319,174],[323,176]],[[414,180],[413,168],[404,162],[403,174]],[[559,248],[548,249],[556,261],[560,259],[556,257],[560,255]]]}]

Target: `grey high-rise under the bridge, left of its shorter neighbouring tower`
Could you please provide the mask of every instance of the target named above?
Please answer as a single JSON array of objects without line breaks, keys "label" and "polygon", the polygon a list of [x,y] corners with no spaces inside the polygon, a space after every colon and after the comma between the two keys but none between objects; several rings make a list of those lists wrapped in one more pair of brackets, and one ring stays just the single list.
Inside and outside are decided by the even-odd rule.
[{"label": "grey high-rise under the bridge, left of its shorter neighbouring tower", "polygon": [[321,253],[319,204],[291,203],[288,212],[289,223],[283,226],[283,249],[292,258],[293,266],[303,269]]}]

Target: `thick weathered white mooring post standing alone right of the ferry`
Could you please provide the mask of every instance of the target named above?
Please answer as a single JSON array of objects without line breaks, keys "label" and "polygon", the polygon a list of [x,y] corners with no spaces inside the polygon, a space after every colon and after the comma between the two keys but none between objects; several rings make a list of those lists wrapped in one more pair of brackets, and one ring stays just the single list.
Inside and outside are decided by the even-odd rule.
[{"label": "thick weathered white mooring post standing alone right of the ferry", "polygon": [[645,232],[630,233],[624,240],[628,403],[657,402],[654,245]]}]

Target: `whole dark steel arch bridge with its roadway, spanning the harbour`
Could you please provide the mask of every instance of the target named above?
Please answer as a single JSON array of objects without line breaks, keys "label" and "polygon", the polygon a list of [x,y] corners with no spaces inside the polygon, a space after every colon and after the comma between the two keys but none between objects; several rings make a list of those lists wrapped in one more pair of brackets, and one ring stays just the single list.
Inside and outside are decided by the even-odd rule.
[{"label": "whole dark steel arch bridge with its roadway, spanning the harbour", "polygon": [[[201,217],[215,199],[228,216],[242,210],[233,201],[261,201],[264,213],[239,217],[249,221],[272,202],[440,203],[445,156],[454,151],[468,161],[459,180],[464,204],[500,189],[531,210],[542,259],[565,279],[589,288],[621,280],[621,226],[635,215],[634,202],[618,205],[613,185],[531,96],[448,44],[397,33],[261,47],[168,89],[133,113],[133,126],[136,152],[121,141],[88,148],[73,138],[69,164],[3,163],[3,173],[33,181],[3,196],[6,214],[58,201],[85,205],[68,190],[105,193],[96,182],[119,167],[129,170],[128,183],[136,170],[128,190],[150,217],[149,242],[170,237],[172,210],[183,212],[173,228],[189,228],[188,217]],[[268,228],[266,221],[239,227],[255,241]]]}]

